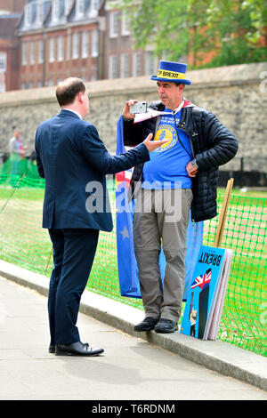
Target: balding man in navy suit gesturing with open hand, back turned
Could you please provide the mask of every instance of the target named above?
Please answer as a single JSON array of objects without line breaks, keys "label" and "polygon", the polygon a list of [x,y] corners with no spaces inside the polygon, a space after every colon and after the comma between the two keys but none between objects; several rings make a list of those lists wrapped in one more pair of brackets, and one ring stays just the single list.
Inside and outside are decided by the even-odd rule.
[{"label": "balding man in navy suit gesturing with open hand, back turned", "polygon": [[36,131],[36,163],[45,179],[43,228],[53,243],[48,295],[49,352],[97,356],[80,341],[77,314],[97,247],[99,231],[113,228],[105,174],[118,173],[150,159],[159,141],[110,156],[96,128],[85,122],[89,99],[85,84],[69,77],[56,91],[61,112]]}]

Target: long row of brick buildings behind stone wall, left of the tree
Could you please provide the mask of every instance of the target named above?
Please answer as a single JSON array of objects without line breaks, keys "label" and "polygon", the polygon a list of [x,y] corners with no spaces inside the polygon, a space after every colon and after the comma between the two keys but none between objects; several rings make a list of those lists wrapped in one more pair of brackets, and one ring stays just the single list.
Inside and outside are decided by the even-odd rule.
[{"label": "long row of brick buildings behind stone wall, left of the tree", "polygon": [[134,50],[125,14],[116,4],[28,0],[16,28],[20,69],[12,89],[54,85],[67,76],[93,81],[154,73],[152,51]]}]

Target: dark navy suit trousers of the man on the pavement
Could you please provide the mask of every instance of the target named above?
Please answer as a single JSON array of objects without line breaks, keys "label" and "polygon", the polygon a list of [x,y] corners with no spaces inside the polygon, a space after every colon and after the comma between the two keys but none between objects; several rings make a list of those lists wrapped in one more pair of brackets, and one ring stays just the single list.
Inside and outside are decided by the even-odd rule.
[{"label": "dark navy suit trousers of the man on the pavement", "polygon": [[77,315],[98,243],[98,229],[49,229],[53,272],[48,294],[51,344],[80,341]]}]

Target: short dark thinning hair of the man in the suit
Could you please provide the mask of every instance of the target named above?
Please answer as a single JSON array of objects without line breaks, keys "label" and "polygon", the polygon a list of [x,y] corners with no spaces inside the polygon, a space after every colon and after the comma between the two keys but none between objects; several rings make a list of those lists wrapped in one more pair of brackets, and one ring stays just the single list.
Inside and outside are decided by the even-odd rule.
[{"label": "short dark thinning hair of the man in the suit", "polygon": [[60,106],[73,103],[79,92],[85,92],[85,84],[80,78],[69,77],[63,80],[56,90],[56,97]]}]

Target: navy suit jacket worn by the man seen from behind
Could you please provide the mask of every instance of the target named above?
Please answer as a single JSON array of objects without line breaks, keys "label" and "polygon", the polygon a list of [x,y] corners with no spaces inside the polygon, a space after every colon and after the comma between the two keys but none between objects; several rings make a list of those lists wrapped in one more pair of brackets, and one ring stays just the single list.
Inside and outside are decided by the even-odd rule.
[{"label": "navy suit jacket worn by the man seen from behind", "polygon": [[96,128],[75,113],[61,113],[36,130],[36,164],[45,179],[43,228],[113,228],[106,174],[150,159],[140,144],[111,156]]}]

